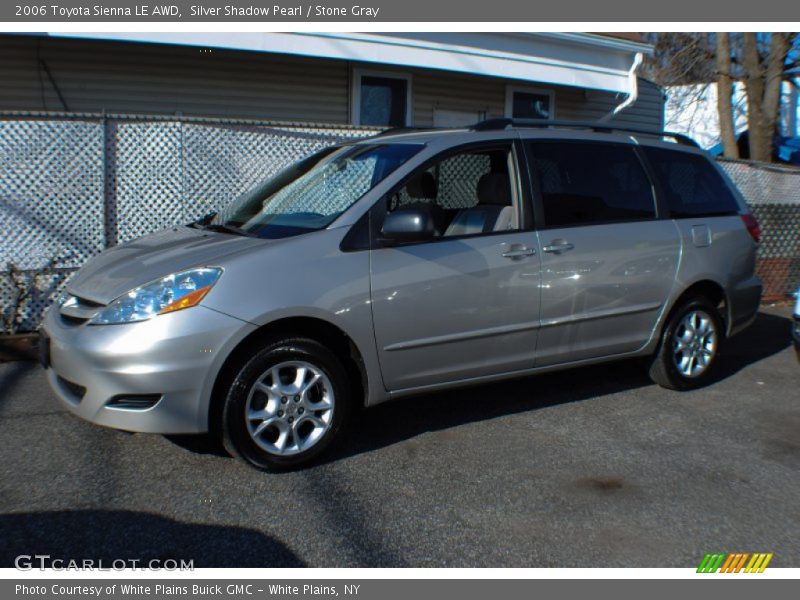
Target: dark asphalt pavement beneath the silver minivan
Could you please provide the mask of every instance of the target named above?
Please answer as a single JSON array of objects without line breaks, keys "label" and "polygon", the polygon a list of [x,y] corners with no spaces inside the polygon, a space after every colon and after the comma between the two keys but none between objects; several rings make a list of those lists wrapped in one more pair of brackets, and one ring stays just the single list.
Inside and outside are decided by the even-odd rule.
[{"label": "dark asphalt pavement beneath the silver minivan", "polygon": [[762,312],[718,381],[635,362],[377,407],[325,464],[271,475],[203,438],[84,423],[31,363],[0,365],[0,566],[800,566],[800,364]]}]

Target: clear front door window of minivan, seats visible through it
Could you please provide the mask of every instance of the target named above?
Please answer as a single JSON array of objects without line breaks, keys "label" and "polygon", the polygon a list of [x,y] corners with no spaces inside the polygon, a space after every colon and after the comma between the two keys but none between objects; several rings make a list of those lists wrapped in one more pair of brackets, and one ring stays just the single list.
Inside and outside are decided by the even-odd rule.
[{"label": "clear front door window of minivan, seats visible through it", "polygon": [[517,229],[518,201],[508,148],[450,155],[413,175],[389,202],[389,210],[424,207],[437,237]]}]

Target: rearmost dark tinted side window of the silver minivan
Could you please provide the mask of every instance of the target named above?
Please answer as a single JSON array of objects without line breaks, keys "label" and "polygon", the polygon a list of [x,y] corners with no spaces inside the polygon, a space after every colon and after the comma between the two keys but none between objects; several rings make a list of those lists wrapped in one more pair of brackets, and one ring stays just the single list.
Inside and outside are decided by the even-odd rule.
[{"label": "rearmost dark tinted side window of the silver minivan", "polygon": [[730,188],[705,157],[662,148],[643,150],[661,181],[671,217],[712,217],[739,212]]}]

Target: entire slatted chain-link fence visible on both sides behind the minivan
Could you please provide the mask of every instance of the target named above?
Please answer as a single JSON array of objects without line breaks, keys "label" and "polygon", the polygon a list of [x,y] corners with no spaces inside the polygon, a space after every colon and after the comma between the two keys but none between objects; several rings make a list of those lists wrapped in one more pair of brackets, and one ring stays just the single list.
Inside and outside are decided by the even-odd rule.
[{"label": "entire slatted chain-link fence visible on both sides behind the minivan", "polygon": [[[34,331],[104,248],[227,205],[287,164],[375,130],[134,115],[0,113],[0,332]],[[723,161],[763,230],[765,298],[800,285],[800,170]]]}]

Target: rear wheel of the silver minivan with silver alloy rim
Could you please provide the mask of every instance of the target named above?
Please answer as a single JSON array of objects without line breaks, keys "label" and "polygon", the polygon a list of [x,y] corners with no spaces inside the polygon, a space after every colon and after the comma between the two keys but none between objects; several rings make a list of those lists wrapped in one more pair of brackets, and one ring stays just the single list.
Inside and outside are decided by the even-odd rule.
[{"label": "rear wheel of the silver minivan with silver alloy rim", "polygon": [[716,306],[704,297],[685,301],[673,310],[664,327],[650,364],[650,378],[672,390],[706,385],[716,367],[724,336]]}]

